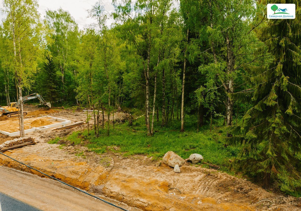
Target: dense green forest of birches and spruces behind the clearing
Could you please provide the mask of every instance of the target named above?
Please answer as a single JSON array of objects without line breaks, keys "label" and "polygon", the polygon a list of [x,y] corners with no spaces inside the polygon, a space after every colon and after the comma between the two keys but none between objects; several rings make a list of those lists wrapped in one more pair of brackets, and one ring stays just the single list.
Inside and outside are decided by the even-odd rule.
[{"label": "dense green forest of birches and spruces behind the clearing", "polygon": [[[296,18],[267,19],[268,3],[295,4]],[[218,134],[216,150],[234,151],[227,169],[300,196],[301,2],[112,5],[110,13],[97,2],[88,10],[95,24],[79,29],[62,8],[41,17],[37,0],[3,0],[0,104],[39,93],[54,107],[97,111],[87,115],[94,122],[87,128],[91,137],[114,137],[117,126],[99,124],[99,111],[109,120],[114,111],[137,113],[144,117],[141,145],[167,131],[166,139],[186,134],[191,150],[204,134]],[[22,104],[20,109],[22,133]],[[119,129],[128,133],[135,121]],[[197,134],[193,140],[191,133]]]}]

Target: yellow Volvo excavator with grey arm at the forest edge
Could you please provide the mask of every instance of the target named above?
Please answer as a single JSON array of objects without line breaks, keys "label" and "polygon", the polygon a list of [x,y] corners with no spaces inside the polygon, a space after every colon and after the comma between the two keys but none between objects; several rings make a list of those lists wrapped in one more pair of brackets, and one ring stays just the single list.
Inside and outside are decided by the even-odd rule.
[{"label": "yellow Volvo excavator with grey arm at the forest edge", "polygon": [[[27,95],[25,97],[22,97],[22,102],[26,102],[31,99],[36,99],[38,98],[43,105],[48,106],[51,108],[50,102],[45,102],[45,100],[42,98],[41,95],[38,93],[34,93],[31,95]],[[10,106],[2,106],[0,107],[0,112],[2,115],[7,115],[7,117],[17,117],[19,116],[19,105],[21,104],[21,99],[19,99],[18,102],[11,102]],[[27,115],[27,112],[23,112],[23,115]]]}]

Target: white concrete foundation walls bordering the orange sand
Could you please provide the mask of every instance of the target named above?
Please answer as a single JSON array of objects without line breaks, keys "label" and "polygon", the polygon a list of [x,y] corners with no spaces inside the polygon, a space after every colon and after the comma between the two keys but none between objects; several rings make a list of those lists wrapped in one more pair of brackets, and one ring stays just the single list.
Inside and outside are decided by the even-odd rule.
[{"label": "white concrete foundation walls bordering the orange sand", "polygon": [[[38,118],[45,118],[45,117],[51,118],[51,119],[48,119],[47,121],[50,121],[50,122],[58,121],[58,122],[60,122],[60,123],[49,124],[49,125],[41,126],[41,127],[33,127],[33,128],[30,128],[30,129],[24,130],[25,134],[26,134],[26,133],[35,132],[35,131],[45,131],[45,130],[50,130],[50,129],[53,128],[53,127],[59,127],[59,126],[71,124],[71,121],[70,121],[70,120],[67,120],[67,119],[61,119],[61,118],[56,118],[56,117],[51,117],[51,116],[43,116],[43,117],[38,117]],[[6,132],[6,131],[1,131],[1,130],[0,130],[0,133],[5,134],[5,135],[8,135],[8,136],[19,136],[19,135],[20,135],[20,131],[16,131],[16,132],[13,132],[13,133],[8,133],[8,132]]]}]

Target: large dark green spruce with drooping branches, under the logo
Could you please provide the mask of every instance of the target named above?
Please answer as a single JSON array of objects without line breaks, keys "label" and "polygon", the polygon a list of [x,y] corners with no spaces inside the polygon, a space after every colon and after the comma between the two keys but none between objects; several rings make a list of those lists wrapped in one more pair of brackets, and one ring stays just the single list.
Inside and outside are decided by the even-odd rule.
[{"label": "large dark green spruce with drooping branches, under the logo", "polygon": [[301,2],[285,3],[296,4],[296,19],[271,19],[257,31],[271,62],[246,67],[253,88],[230,96],[253,106],[242,124],[231,128],[234,136],[227,141],[242,145],[237,164],[245,173],[263,178],[266,187],[279,174],[300,178]]}]

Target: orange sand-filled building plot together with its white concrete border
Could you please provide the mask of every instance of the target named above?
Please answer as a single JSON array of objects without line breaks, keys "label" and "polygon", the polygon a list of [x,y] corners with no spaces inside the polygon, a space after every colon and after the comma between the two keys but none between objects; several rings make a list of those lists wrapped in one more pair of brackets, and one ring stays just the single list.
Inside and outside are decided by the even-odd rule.
[{"label": "orange sand-filled building plot together with its white concrete border", "polygon": [[[53,127],[71,124],[70,120],[56,118],[52,116],[43,116],[24,120],[24,132],[45,131]],[[8,136],[17,136],[20,132],[19,120],[6,120],[0,122],[0,133]]]}]

